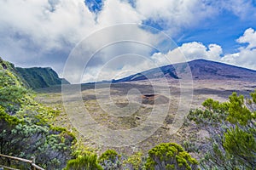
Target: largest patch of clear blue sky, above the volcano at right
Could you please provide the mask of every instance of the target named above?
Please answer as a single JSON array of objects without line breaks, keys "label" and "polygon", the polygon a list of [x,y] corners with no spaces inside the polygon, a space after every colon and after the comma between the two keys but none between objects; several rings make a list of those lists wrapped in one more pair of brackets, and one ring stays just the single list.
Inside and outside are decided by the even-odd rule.
[{"label": "largest patch of clear blue sky, above the volcano at right", "polygon": [[184,37],[177,41],[203,42],[204,44],[217,43],[224,49],[224,53],[235,53],[241,45],[236,42],[247,28],[256,28],[256,20],[253,17],[241,19],[236,14],[223,11],[217,17],[206,20],[195,29],[183,31]]}]

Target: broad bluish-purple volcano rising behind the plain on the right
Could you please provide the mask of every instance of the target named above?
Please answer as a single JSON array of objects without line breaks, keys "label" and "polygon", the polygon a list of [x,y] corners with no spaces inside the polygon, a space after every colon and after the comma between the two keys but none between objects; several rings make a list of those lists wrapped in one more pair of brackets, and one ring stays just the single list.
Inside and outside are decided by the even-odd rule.
[{"label": "broad bluish-purple volcano rising behind the plain on the right", "polygon": [[[256,71],[246,68],[227,65],[206,59],[195,59],[188,62],[193,79],[199,80],[240,80],[240,81],[256,81]],[[154,68],[148,71],[143,71],[129,77],[124,77],[112,82],[132,82],[139,80],[146,80],[148,78],[162,78],[171,79],[181,78],[183,74],[189,71],[186,69],[184,63],[165,65],[159,68]],[[178,73],[178,74],[177,74]]]}]

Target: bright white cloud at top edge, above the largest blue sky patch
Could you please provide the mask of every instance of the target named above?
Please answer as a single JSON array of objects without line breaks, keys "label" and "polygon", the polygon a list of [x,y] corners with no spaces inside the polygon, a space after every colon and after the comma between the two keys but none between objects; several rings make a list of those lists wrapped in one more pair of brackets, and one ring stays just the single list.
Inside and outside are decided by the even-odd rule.
[{"label": "bright white cloud at top edge, above the largest blue sky patch", "polygon": [[172,36],[183,27],[196,26],[216,14],[214,7],[201,0],[137,0],[137,11],[149,20],[160,23]]}]

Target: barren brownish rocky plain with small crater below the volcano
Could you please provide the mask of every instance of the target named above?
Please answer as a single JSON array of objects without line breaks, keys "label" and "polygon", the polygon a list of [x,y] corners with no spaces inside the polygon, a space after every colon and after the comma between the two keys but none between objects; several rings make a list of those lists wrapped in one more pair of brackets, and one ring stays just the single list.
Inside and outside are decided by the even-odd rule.
[{"label": "barren brownish rocky plain with small crater below the volcano", "polygon": [[85,84],[79,93],[67,94],[65,107],[60,86],[39,89],[36,99],[61,110],[55,124],[68,127],[97,152],[114,148],[130,155],[163,142],[176,142],[194,147],[192,154],[198,157],[196,150],[207,142],[208,133],[183,117],[190,109],[201,107],[205,99],[226,101],[233,92],[249,96],[256,88],[256,82],[235,80],[150,83],[99,84],[96,88]]}]

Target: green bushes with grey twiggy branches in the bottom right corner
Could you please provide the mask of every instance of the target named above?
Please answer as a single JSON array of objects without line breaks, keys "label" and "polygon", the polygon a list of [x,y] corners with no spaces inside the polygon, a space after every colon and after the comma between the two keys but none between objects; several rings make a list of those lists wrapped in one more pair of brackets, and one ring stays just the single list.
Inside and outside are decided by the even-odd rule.
[{"label": "green bushes with grey twiggy branches in the bottom right corner", "polygon": [[224,103],[207,99],[203,103],[204,110],[189,112],[189,120],[211,134],[207,153],[201,161],[203,169],[256,167],[256,91],[251,97],[244,99],[233,93]]}]

